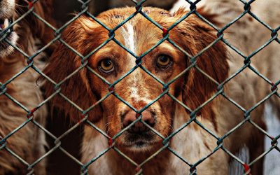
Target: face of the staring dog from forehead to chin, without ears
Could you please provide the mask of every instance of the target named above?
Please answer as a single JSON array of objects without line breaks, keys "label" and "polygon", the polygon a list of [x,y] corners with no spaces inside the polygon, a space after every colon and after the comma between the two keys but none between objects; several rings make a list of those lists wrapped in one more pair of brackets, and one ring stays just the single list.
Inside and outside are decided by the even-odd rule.
[{"label": "face of the staring dog from forehead to chin, without ears", "polygon": [[[160,11],[156,13],[160,14]],[[112,14],[112,17],[113,22],[103,21],[111,29],[125,20],[128,17],[128,13],[119,13],[115,18],[114,14]],[[83,25],[86,28],[87,21],[82,22],[85,22]],[[94,30],[89,31],[92,32]],[[101,32],[101,35],[104,37],[98,38],[99,43],[97,45],[102,44],[108,38],[108,31],[103,30]],[[141,15],[137,15],[136,18],[120,27],[115,34],[115,38],[135,55],[143,55],[162,38],[162,31],[151,24],[151,22],[145,20]],[[179,38],[174,38],[174,40],[179,41]],[[167,41],[158,45],[157,48],[149,52],[141,60],[141,66],[164,83],[168,83],[175,78],[188,65],[185,55]],[[98,50],[89,61],[90,67],[110,83],[116,82],[137,65],[137,59],[113,41],[110,41]],[[109,86],[97,76],[89,76],[89,80],[90,87],[95,94],[98,94],[100,97],[105,97],[108,94]],[[169,93],[179,97],[183,89],[183,83],[181,82],[183,82],[183,77],[169,86]],[[148,104],[151,104],[164,91],[162,84],[139,67],[114,87],[114,92],[137,111],[141,111]],[[174,106],[174,100],[165,94],[153,105],[149,106],[146,111],[141,113],[142,120],[167,137],[172,131],[172,117],[174,116],[174,108],[172,106]],[[102,109],[103,117],[107,119],[106,123],[108,123],[107,132],[111,137],[133,123],[140,116],[140,113],[133,111],[113,95],[102,102]],[[118,138],[117,143],[127,148],[139,148],[136,150],[142,150],[153,146],[155,143],[160,142],[160,140],[160,137],[157,137],[151,130],[148,130],[144,124],[138,122]]]}]

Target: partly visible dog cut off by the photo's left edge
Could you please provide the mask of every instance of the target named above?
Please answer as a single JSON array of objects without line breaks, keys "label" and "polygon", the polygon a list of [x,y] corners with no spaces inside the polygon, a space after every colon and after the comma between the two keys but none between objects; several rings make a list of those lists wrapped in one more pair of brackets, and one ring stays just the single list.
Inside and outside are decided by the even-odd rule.
[{"label": "partly visible dog cut off by the photo's left edge", "polygon": [[[47,117],[45,106],[36,109],[38,104],[43,102],[43,94],[40,87],[36,85],[38,73],[31,68],[22,71],[31,62],[27,64],[27,57],[15,50],[12,45],[31,56],[50,42],[52,29],[36,19],[34,15],[26,15],[15,25],[13,22],[33,8],[34,13],[55,25],[51,18],[51,3],[51,1],[38,1],[33,4],[22,0],[0,2],[0,174],[27,174],[28,172],[45,174],[45,160],[29,167],[45,154],[45,133],[32,121],[23,125],[33,117],[32,120],[42,127],[45,126]],[[34,57],[33,62],[38,69],[43,69],[45,66],[44,59],[51,49],[52,46]],[[13,78],[20,71],[22,74]],[[6,84],[3,85],[4,83]],[[8,97],[13,98],[15,102]],[[16,130],[18,127],[20,129]],[[15,133],[9,136],[13,132]],[[8,151],[18,155],[24,162]]]}]

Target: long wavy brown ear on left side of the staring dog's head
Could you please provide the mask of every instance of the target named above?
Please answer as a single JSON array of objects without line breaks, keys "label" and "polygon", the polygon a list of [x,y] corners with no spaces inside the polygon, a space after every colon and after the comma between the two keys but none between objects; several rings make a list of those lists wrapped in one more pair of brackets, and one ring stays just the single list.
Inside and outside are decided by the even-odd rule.
[{"label": "long wavy brown ear on left side of the staring dog's head", "polygon": [[[87,55],[87,50],[94,50],[94,43],[90,43],[90,38],[99,39],[98,34],[94,36],[88,35],[88,29],[84,26],[83,22],[85,22],[84,17],[82,20],[76,20],[69,27],[63,31],[62,40],[70,45],[73,49],[80,52],[82,55]],[[83,22],[82,22],[83,21]],[[92,21],[89,21],[92,26],[91,31],[99,31],[97,29],[93,29],[94,25]],[[101,29],[100,29],[101,30]],[[97,33],[97,32],[96,32]],[[82,58],[79,57],[73,50],[69,49],[63,43],[59,43],[55,51],[52,53],[50,57],[50,62],[48,66],[46,66],[44,73],[56,83],[61,82],[67,76],[71,75],[74,71],[80,68],[82,65]],[[71,100],[74,104],[79,106],[81,109],[86,110],[94,103],[97,102],[97,97],[92,92],[90,82],[89,82],[89,71],[86,67],[80,69],[76,74],[71,76],[71,78],[65,80],[62,85],[60,85],[60,93],[66,96]],[[47,97],[50,97],[51,94],[55,92],[55,85],[50,83],[47,80],[45,82],[45,94]],[[62,110],[66,113],[66,116],[69,116],[72,120],[77,121],[80,120],[81,112],[73,106],[73,104],[67,102],[61,95],[57,94],[52,98],[50,105],[52,107],[56,107],[59,110]],[[101,106],[97,105],[92,109],[89,113],[89,119],[92,122],[99,120],[102,117],[102,109]]]}]

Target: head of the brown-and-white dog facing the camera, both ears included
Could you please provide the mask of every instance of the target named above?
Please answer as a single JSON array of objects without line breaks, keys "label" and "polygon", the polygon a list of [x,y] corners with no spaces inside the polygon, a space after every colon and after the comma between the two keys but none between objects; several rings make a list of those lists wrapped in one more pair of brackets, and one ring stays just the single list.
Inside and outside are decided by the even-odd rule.
[{"label": "head of the brown-and-white dog facing the camera, both ears included", "polygon": [[[134,8],[114,9],[102,13],[97,18],[104,25],[113,29],[134,11]],[[165,29],[174,25],[186,13],[179,10],[175,14],[169,14],[158,8],[144,8],[143,11]],[[153,48],[163,38],[162,29],[140,14],[125,22],[116,29],[114,34],[114,38],[118,42],[138,56]],[[190,55],[196,55],[217,38],[214,29],[205,25],[195,15],[190,15],[189,18],[183,20],[169,31],[169,34],[169,38]],[[63,44],[60,44],[52,55],[45,73],[57,83],[64,80],[60,86],[62,94],[81,109],[88,109],[95,104],[93,109],[88,112],[89,119],[93,122],[97,122],[101,118],[106,120],[106,132],[111,137],[132,125],[139,117],[146,125],[167,137],[172,132],[176,102],[168,94],[156,101],[166,89],[163,89],[163,85],[153,76],[158,77],[163,83],[170,82],[190,66],[190,58],[169,41],[164,41],[141,59],[141,66],[146,71],[153,73],[151,76],[144,69],[137,68],[136,65],[139,63],[137,59],[115,41],[106,43],[109,37],[108,30],[85,16],[73,22],[63,34],[64,41],[82,55],[87,55],[98,48],[87,59],[87,66],[90,66],[109,83],[120,80],[111,90],[132,108],[113,94],[106,97],[110,92],[109,85],[94,75],[90,69],[83,67],[82,58]],[[106,44],[99,48],[102,43]],[[225,80],[228,75],[228,62],[223,43],[214,44],[200,55],[197,59],[197,67],[219,82]],[[65,79],[79,68],[80,71],[76,72],[74,76]],[[132,69],[134,71],[128,73]],[[48,95],[55,92],[52,83],[47,83],[45,87]],[[168,92],[194,110],[209,99],[216,90],[215,83],[193,68],[169,85]],[[102,98],[104,98],[102,102],[96,104]],[[148,106],[149,104],[151,106]],[[73,120],[80,119],[80,112],[65,99],[55,97],[52,105],[65,110]],[[148,108],[145,111],[137,113],[146,106]],[[206,117],[213,117],[206,111],[202,110],[202,113]],[[134,151],[145,151],[153,146],[158,146],[162,139],[157,137],[146,125],[140,122],[132,125],[116,139],[117,146]]]}]

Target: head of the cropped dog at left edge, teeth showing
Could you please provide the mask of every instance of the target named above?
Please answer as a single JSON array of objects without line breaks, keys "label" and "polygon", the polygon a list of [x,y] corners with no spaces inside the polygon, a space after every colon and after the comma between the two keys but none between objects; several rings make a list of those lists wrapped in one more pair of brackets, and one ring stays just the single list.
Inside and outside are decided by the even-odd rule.
[{"label": "head of the cropped dog at left edge, teeth showing", "polygon": [[[43,41],[50,40],[50,29],[45,27],[43,22],[36,19],[31,13],[27,14],[29,8],[41,18],[47,20],[51,24],[50,16],[52,9],[52,0],[36,1],[33,5],[27,0],[1,0],[0,1],[0,57],[6,57],[13,52],[13,46],[25,40],[27,37],[27,28],[31,30],[31,34],[41,38]],[[11,26],[15,20],[18,20],[26,13],[25,18],[19,20],[15,25]],[[18,40],[20,38],[20,40]],[[8,41],[8,42],[7,42]]]}]

